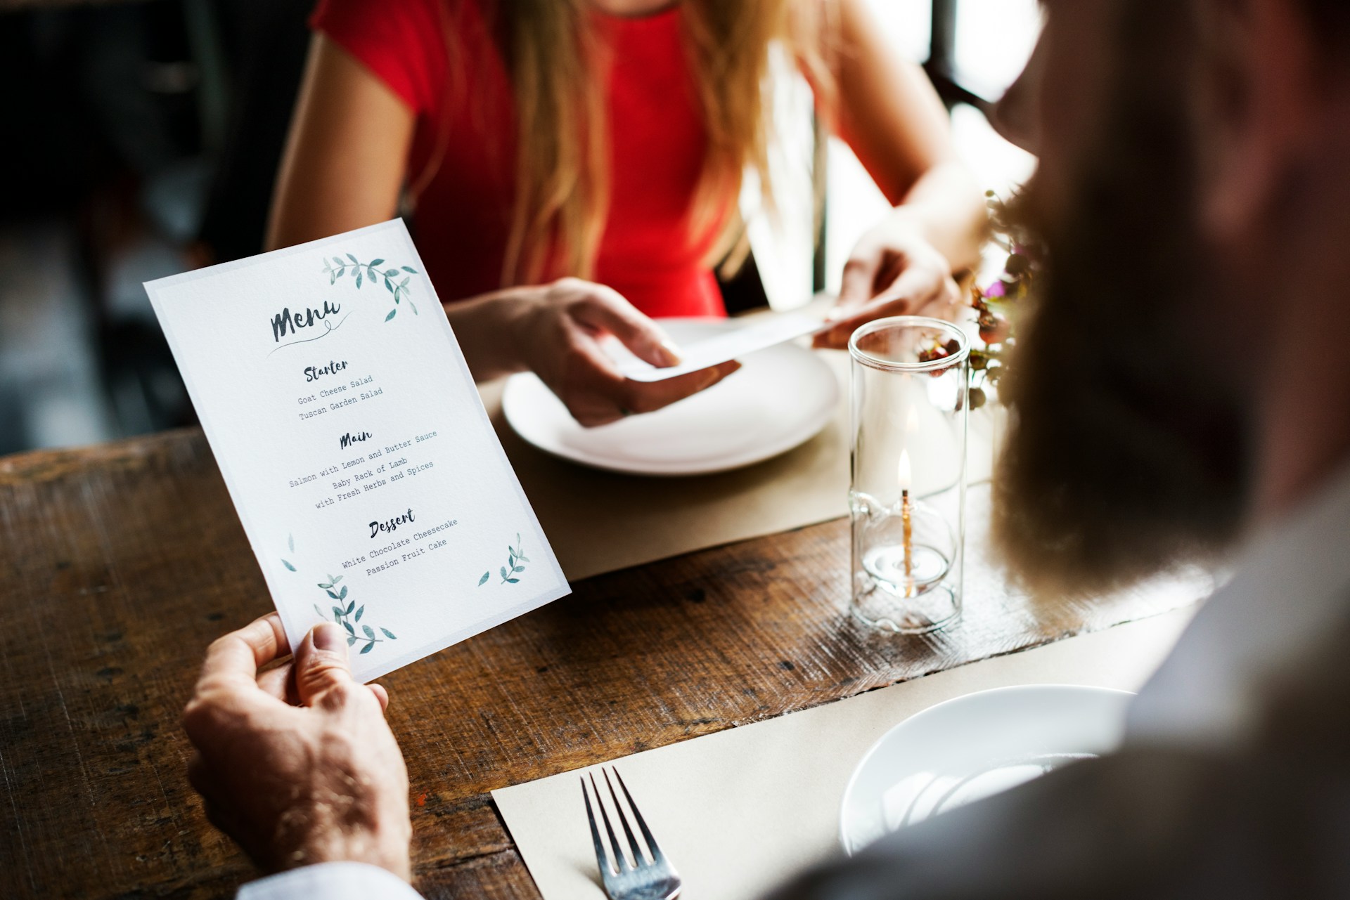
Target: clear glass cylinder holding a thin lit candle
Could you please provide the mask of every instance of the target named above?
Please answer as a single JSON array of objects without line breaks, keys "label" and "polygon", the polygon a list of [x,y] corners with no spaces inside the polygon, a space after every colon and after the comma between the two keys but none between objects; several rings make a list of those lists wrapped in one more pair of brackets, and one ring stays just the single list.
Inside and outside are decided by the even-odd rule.
[{"label": "clear glass cylinder holding a thin lit candle", "polygon": [[853,614],[900,634],[961,617],[969,337],[940,318],[859,328],[852,355]]}]

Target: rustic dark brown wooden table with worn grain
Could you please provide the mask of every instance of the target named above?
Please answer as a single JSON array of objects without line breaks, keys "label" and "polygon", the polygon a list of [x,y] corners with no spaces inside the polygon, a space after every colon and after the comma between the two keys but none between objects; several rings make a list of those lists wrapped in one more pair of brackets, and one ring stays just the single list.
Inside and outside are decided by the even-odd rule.
[{"label": "rustic dark brown wooden table with worn grain", "polygon": [[[601,575],[386,679],[428,897],[537,897],[489,791],[1174,609],[1037,606],[980,559],[923,638],[846,613],[848,525]],[[255,877],[208,823],[178,727],[207,644],[270,600],[205,440],[0,460],[5,896],[220,897]]]}]

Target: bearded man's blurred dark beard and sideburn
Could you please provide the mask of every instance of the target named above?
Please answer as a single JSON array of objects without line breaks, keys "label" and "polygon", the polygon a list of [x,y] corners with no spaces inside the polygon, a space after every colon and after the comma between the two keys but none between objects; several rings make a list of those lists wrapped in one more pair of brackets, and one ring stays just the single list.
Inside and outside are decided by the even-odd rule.
[{"label": "bearded man's blurred dark beard and sideburn", "polygon": [[[1347,1],[1347,0],[1341,0]],[[1064,209],[1014,216],[1048,269],[999,393],[1013,410],[995,538],[1041,595],[1095,594],[1222,551],[1250,436],[1206,360],[1216,302],[1196,224],[1187,4],[1119,4],[1112,76]]]}]

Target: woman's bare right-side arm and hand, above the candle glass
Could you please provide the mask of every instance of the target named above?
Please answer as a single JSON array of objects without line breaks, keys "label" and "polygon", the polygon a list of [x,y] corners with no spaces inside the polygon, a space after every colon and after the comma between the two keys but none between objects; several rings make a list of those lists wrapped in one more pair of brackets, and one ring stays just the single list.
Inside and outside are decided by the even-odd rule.
[{"label": "woman's bare right-side arm and hand, above the candle glass", "polygon": [[952,275],[979,264],[986,229],[983,193],[923,70],[886,43],[865,0],[837,0],[837,9],[836,130],[895,209],[845,264],[840,325],[818,340],[834,347],[871,318],[956,302]]}]

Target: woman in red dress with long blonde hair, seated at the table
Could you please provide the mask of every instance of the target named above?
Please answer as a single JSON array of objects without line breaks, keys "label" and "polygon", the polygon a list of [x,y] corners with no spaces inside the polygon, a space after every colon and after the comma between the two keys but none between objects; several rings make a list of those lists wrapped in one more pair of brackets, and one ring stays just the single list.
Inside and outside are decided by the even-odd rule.
[{"label": "woman in red dress with long blonde hair, seated at the table", "polygon": [[321,0],[312,24],[270,246],[410,209],[474,375],[533,370],[583,424],[734,371],[630,382],[597,341],[672,364],[653,318],[725,314],[711,263],[745,167],[767,182],[774,46],[895,205],[818,343],[954,302],[977,262],[983,197],[865,0]]}]

